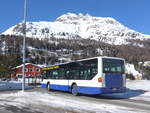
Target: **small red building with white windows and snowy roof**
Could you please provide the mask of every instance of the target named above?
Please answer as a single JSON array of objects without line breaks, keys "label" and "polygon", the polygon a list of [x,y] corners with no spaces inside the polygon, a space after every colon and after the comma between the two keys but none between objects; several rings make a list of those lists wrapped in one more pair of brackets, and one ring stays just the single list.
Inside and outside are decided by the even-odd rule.
[{"label": "small red building with white windows and snowy roof", "polygon": [[[13,69],[12,78],[22,78],[23,65],[17,66]],[[25,64],[25,77],[41,77],[42,67],[32,63]]]}]

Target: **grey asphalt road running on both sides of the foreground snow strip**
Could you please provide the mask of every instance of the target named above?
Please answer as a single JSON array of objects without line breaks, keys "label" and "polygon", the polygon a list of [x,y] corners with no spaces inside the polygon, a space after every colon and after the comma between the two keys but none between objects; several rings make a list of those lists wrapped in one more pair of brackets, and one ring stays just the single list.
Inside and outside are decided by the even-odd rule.
[{"label": "grey asphalt road running on both sides of the foreground snow strip", "polygon": [[[0,92],[0,94],[9,94],[12,92],[17,91],[3,91]],[[110,105],[116,105],[116,106],[122,106],[131,108],[135,111],[141,111],[143,113],[150,113],[150,101],[143,101],[143,100],[132,100],[132,99],[116,99],[116,98],[110,98],[107,96],[89,96],[89,95],[80,95],[80,96],[73,96],[70,93],[66,92],[59,92],[59,91],[53,91],[49,92],[42,88],[35,88],[31,90],[27,90],[27,92],[41,92],[41,93],[47,93],[47,94],[55,94],[57,96],[60,96],[62,98],[67,99],[75,99],[78,101],[87,101],[90,103],[96,103],[96,104],[110,104]],[[0,102],[4,102],[6,100],[0,99]],[[7,102],[6,102],[7,103]],[[0,113],[77,113],[79,111],[74,110],[67,110],[57,107],[52,107],[48,105],[33,105],[29,104],[23,108],[19,108],[17,106],[13,105],[0,105]],[[81,111],[81,112],[88,112],[88,111]],[[91,111],[89,111],[91,113]]]}]

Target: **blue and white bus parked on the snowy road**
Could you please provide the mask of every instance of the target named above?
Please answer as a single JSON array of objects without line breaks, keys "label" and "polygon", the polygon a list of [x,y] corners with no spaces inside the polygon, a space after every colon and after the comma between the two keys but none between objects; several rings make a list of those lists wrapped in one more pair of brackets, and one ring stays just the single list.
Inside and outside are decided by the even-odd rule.
[{"label": "blue and white bus parked on the snowy road", "polygon": [[103,56],[44,67],[41,87],[73,95],[119,93],[125,80],[125,60]]}]

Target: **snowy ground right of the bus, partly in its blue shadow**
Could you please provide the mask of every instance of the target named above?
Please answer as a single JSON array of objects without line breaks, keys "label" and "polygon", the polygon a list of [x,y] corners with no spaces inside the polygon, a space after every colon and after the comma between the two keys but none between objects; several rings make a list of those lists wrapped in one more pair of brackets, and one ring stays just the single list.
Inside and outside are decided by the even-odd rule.
[{"label": "snowy ground right of the bus, partly in its blue shadow", "polygon": [[150,101],[150,81],[127,80],[126,87],[127,91],[125,93],[104,94],[104,96]]}]

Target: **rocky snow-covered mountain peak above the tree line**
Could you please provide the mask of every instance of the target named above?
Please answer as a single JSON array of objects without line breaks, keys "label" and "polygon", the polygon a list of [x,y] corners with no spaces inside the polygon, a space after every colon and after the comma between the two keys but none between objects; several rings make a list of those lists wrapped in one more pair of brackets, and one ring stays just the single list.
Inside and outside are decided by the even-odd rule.
[{"label": "rocky snow-covered mountain peak above the tree line", "polygon": [[[22,23],[12,26],[2,34],[22,35]],[[109,44],[128,44],[130,39],[146,40],[144,35],[131,30],[110,17],[93,17],[88,14],[67,13],[53,22],[27,22],[27,36],[35,38],[89,38]]]}]

